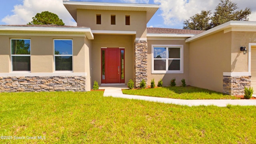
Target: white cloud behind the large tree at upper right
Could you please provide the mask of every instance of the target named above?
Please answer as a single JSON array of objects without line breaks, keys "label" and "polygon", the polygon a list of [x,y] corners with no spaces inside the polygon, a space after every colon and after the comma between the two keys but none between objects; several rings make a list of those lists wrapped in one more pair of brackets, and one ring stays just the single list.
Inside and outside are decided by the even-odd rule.
[{"label": "white cloud behind the large tree at upper right", "polygon": [[[255,0],[232,0],[236,3],[239,10],[248,7],[252,14],[250,21],[256,21],[256,1]],[[171,27],[181,27],[186,19],[200,13],[202,10],[212,10],[220,3],[219,0],[154,0],[160,4],[164,24]]]}]

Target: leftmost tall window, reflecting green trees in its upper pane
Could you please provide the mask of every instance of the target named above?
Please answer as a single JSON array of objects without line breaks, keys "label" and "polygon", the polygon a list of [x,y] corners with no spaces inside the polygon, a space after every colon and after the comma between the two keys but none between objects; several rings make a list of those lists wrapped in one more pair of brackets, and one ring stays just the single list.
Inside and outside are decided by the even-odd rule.
[{"label": "leftmost tall window, reflecting green trees in its upper pane", "polygon": [[30,71],[30,39],[11,39],[12,71]]}]

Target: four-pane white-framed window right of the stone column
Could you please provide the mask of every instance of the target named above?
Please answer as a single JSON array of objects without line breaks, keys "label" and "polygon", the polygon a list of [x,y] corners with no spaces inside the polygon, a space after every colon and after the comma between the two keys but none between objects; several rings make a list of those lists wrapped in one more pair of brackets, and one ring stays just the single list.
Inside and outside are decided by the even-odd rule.
[{"label": "four-pane white-framed window right of the stone column", "polygon": [[152,74],[183,73],[183,45],[152,45]]}]

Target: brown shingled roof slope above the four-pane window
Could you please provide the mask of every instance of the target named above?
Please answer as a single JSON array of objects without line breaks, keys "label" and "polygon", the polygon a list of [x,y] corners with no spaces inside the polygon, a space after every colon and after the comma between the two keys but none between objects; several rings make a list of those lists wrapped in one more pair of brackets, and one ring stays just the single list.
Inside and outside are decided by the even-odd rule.
[{"label": "brown shingled roof slope above the four-pane window", "polygon": [[204,30],[185,30],[174,28],[147,28],[148,34],[200,34]]}]

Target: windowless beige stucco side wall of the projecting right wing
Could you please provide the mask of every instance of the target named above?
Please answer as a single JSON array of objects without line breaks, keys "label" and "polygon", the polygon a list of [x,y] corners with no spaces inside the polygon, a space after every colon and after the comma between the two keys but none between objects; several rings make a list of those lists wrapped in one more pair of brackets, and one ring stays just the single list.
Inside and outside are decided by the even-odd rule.
[{"label": "windowless beige stucco side wall of the projecting right wing", "polygon": [[231,36],[221,31],[189,43],[191,86],[222,92],[223,72],[231,72]]}]

